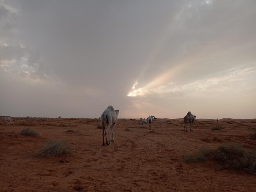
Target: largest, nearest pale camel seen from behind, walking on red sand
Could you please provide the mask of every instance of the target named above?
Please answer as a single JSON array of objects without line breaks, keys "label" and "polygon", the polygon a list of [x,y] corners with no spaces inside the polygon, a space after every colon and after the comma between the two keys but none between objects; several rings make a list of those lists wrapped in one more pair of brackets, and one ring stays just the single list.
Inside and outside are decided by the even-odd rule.
[{"label": "largest, nearest pale camel seen from behind, walking on red sand", "polygon": [[[112,136],[112,141],[115,142],[114,139],[114,128],[117,125],[117,116],[119,114],[119,110],[114,110],[114,107],[112,105],[109,105],[107,109],[104,110],[104,112],[101,115],[101,120],[102,120],[102,137],[103,137],[103,143],[102,145],[105,145],[104,143],[104,137],[106,136],[106,145],[111,144],[111,136]],[[105,126],[107,127],[105,128]],[[107,131],[108,128],[111,127],[110,131],[110,136],[109,136],[109,141],[107,138]]]}]

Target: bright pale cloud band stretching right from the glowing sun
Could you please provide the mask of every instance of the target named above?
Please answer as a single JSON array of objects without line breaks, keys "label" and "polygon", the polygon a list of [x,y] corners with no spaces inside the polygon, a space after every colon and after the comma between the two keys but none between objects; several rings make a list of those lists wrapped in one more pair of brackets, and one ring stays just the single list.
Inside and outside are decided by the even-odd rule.
[{"label": "bright pale cloud band stretching right from the glowing sun", "polygon": [[255,88],[255,85],[249,84],[249,78],[256,75],[255,63],[231,68],[222,73],[215,74],[211,78],[198,78],[195,81],[181,84],[171,82],[157,87],[140,87],[135,88],[139,83],[136,81],[132,86],[133,91],[128,96],[147,96],[155,95],[162,98],[197,98],[197,97],[212,97],[219,94],[240,93],[246,89]]}]

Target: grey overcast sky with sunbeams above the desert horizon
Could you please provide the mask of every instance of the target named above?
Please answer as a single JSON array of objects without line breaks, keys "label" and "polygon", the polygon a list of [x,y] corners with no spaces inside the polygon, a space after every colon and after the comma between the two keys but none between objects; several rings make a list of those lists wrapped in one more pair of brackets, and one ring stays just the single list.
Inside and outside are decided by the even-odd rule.
[{"label": "grey overcast sky with sunbeams above the desert horizon", "polygon": [[256,118],[256,0],[0,0],[0,115]]}]

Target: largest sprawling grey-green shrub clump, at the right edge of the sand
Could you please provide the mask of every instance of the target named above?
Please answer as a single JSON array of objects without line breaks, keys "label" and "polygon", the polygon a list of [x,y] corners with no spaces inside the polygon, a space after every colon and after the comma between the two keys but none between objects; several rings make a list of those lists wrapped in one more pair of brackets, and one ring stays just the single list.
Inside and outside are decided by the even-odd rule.
[{"label": "largest sprawling grey-green shrub clump, at the right edge of the sand", "polygon": [[220,145],[217,149],[202,148],[195,155],[184,154],[185,162],[215,160],[222,167],[235,167],[249,173],[256,172],[256,153],[236,143]]}]

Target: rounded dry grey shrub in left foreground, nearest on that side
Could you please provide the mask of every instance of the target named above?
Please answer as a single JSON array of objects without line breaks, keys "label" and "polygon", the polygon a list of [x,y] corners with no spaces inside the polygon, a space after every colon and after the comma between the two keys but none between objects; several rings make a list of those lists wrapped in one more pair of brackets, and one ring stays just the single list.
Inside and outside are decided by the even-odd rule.
[{"label": "rounded dry grey shrub in left foreground, nearest on that side", "polygon": [[36,150],[34,156],[47,157],[51,155],[67,155],[72,147],[66,141],[46,141],[43,148]]}]

